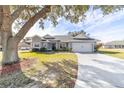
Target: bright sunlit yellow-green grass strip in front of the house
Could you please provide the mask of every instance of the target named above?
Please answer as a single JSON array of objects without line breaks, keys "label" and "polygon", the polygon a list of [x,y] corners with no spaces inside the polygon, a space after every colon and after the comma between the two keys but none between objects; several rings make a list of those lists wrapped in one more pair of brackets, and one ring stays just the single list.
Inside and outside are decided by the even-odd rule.
[{"label": "bright sunlit yellow-green grass strip in front of the house", "polygon": [[23,58],[37,58],[40,62],[57,62],[61,60],[76,61],[76,55],[73,53],[40,53],[40,52],[20,52],[19,56]]}]

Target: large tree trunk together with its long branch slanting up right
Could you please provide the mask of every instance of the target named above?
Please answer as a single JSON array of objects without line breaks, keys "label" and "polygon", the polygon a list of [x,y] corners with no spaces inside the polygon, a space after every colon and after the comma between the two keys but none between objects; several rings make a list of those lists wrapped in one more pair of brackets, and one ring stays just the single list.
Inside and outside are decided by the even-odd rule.
[{"label": "large tree trunk together with its long branch slanting up right", "polygon": [[[19,32],[12,36],[12,20],[15,20],[16,18],[12,18],[10,7],[9,6],[3,6],[3,22],[2,22],[2,52],[3,52],[3,58],[2,58],[2,64],[12,64],[19,61],[18,57],[18,43],[21,41],[21,39],[24,38],[26,33],[30,30],[30,28],[40,19],[45,18],[47,16],[47,13],[49,13],[51,10],[50,6],[45,6],[41,11],[36,13],[33,17],[31,17],[19,30]],[[16,13],[16,12],[15,12]],[[18,17],[18,16],[17,16]],[[12,19],[12,20],[11,20]]]}]

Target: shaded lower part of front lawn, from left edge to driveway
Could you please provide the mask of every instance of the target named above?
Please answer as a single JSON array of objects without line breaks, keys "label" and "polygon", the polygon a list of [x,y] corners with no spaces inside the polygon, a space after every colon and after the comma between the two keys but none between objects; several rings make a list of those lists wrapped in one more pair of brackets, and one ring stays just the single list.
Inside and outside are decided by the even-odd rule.
[{"label": "shaded lower part of front lawn, from left edge to driveway", "polygon": [[[72,60],[43,62],[43,66],[39,69],[35,67],[36,73],[29,76],[23,72],[20,64],[16,68],[18,69],[12,73],[0,75],[0,87],[73,88],[77,78],[77,65]],[[4,69],[2,73],[5,73]]]}]

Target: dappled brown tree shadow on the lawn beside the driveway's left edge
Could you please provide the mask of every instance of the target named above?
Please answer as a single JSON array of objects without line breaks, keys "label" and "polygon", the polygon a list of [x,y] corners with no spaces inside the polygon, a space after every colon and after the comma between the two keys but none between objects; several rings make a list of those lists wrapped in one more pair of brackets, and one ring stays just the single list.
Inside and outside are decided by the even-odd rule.
[{"label": "dappled brown tree shadow on the lawn beside the driveway's left edge", "polygon": [[43,79],[49,83],[51,87],[73,88],[77,79],[77,65],[71,60],[63,60],[62,62],[43,62],[47,67],[43,73]]}]

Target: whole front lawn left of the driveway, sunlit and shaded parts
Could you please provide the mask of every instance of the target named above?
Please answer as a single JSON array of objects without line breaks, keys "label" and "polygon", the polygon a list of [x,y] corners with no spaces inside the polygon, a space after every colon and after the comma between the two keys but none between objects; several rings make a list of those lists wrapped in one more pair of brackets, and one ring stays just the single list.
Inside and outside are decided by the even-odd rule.
[{"label": "whole front lawn left of the driveway, sunlit and shaded parts", "polygon": [[18,69],[2,73],[0,87],[74,87],[78,69],[75,54],[20,52],[19,56]]}]

